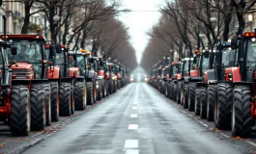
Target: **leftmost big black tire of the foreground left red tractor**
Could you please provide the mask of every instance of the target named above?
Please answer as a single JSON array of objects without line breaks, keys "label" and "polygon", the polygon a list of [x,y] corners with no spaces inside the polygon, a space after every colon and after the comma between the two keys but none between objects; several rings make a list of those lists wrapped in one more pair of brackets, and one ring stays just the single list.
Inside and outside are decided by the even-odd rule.
[{"label": "leftmost big black tire of the foreground left red tractor", "polygon": [[31,126],[31,106],[28,87],[12,86],[12,115],[10,130],[12,136],[28,136]]}]

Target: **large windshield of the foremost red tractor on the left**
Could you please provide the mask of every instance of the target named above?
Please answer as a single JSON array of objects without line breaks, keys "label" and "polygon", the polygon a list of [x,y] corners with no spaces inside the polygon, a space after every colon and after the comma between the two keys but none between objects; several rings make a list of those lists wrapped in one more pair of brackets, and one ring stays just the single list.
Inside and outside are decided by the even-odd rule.
[{"label": "large windshield of the foremost red tractor on the left", "polygon": [[9,62],[27,62],[31,64],[42,63],[43,42],[40,40],[13,39],[13,44],[17,47],[17,54],[8,53]]}]

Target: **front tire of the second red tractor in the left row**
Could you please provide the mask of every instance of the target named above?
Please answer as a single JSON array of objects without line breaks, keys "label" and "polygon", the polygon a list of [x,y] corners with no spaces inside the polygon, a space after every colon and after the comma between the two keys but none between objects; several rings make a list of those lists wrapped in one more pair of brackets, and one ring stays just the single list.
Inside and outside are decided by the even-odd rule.
[{"label": "front tire of the second red tractor in the left row", "polygon": [[61,83],[59,89],[60,116],[71,116],[71,83]]}]

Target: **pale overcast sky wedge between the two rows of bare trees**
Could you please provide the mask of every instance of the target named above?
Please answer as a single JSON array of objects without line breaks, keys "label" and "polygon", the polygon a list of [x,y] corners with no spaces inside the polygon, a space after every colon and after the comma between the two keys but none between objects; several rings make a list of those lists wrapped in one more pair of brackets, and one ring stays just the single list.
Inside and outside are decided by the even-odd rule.
[{"label": "pale overcast sky wedge between the two rows of bare trees", "polygon": [[157,11],[158,5],[162,0],[123,0],[123,7],[131,11],[144,11],[121,13],[119,19],[128,27],[131,45],[136,51],[138,63],[141,60],[142,53],[148,44],[149,37],[146,35],[149,30],[158,22],[160,13],[145,12]]}]

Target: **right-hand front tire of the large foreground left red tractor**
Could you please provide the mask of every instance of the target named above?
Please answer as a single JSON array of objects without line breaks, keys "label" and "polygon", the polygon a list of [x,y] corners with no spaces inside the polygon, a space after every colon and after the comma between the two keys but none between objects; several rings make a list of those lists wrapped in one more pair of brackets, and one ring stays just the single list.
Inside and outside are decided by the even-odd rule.
[{"label": "right-hand front tire of the large foreground left red tractor", "polygon": [[32,85],[30,91],[31,130],[41,131],[45,128],[47,103],[43,85]]}]

